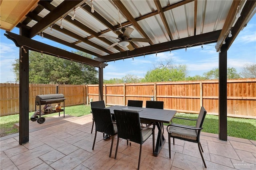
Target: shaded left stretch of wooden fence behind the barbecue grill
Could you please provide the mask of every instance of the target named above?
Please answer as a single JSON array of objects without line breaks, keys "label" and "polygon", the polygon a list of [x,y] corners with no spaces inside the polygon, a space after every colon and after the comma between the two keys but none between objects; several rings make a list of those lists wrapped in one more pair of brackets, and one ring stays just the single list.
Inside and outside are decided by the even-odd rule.
[{"label": "shaded left stretch of wooden fence behind the barbecue grill", "polygon": [[[56,94],[56,90],[64,94],[65,106],[80,105],[86,103],[86,85],[29,85],[29,111],[35,111],[35,99],[37,95]],[[19,84],[0,83],[0,115],[12,115],[19,113]],[[61,103],[63,106],[63,103]],[[55,105],[52,104],[54,107]],[[44,106],[42,106],[44,107]],[[37,107],[38,109],[38,107]]]}]

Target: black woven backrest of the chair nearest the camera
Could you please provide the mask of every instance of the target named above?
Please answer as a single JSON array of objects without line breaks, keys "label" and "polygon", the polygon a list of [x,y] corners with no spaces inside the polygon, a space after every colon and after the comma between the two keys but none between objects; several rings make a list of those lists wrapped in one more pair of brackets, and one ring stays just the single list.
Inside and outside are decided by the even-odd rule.
[{"label": "black woven backrest of the chair nearest the camera", "polygon": [[118,136],[142,144],[140,116],[137,112],[114,110]]}]

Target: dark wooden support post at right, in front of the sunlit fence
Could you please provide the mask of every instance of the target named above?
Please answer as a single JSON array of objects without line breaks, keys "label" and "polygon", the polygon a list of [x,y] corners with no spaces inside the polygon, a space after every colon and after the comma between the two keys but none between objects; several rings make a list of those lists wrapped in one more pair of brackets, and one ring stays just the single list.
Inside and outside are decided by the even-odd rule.
[{"label": "dark wooden support post at right, in front of the sunlit fence", "polygon": [[227,134],[227,46],[219,53],[219,139],[228,140]]}]

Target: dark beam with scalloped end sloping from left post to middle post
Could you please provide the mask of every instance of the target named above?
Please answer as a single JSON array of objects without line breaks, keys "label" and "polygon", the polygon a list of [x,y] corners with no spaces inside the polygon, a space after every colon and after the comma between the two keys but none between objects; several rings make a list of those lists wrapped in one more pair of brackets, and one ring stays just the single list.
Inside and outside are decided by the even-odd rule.
[{"label": "dark beam with scalloped end sloping from left post to middle post", "polygon": [[6,32],[6,33],[7,34],[4,34],[4,36],[6,36],[8,39],[12,40],[16,44],[17,47],[26,46],[32,51],[37,51],[37,52],[42,51],[43,53],[46,53],[48,55],[52,55],[52,56],[56,56],[56,57],[60,57],[60,58],[64,58],[64,59],[70,59],[72,61],[92,65],[95,67],[105,68],[107,65],[105,63],[96,61],[94,59],[83,57],[83,56],[77,55],[75,53],[71,53],[71,52],[65,51],[63,49],[53,47],[51,45],[37,42],[35,40],[31,40],[30,38],[26,38],[24,36],[19,36],[12,32]]}]

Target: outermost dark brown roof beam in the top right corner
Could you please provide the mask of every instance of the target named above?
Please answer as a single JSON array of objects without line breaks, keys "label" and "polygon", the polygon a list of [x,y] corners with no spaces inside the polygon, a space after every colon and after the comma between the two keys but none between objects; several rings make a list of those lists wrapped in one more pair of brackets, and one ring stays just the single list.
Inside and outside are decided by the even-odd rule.
[{"label": "outermost dark brown roof beam in the top right corner", "polygon": [[[242,6],[242,4],[240,4]],[[232,28],[232,37],[228,38],[226,40],[226,44],[229,47],[232,45],[236,37],[238,36],[239,32],[242,30],[242,28],[247,24],[248,18],[253,15],[256,8],[256,1],[255,0],[248,0],[244,4],[244,8],[241,12],[241,16],[236,21],[236,24]]]}]

